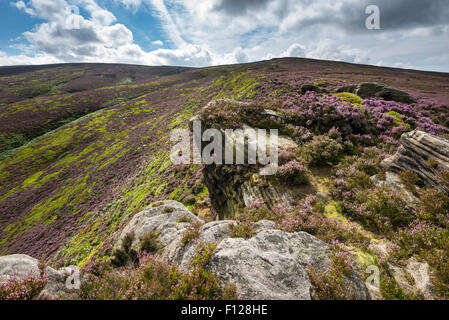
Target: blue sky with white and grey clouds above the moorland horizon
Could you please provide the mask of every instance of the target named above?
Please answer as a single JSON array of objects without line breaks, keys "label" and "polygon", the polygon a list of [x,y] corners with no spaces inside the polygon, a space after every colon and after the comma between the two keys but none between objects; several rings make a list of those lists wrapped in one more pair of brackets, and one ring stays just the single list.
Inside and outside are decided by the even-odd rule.
[{"label": "blue sky with white and grey clouds above the moorland horizon", "polygon": [[448,0],[0,0],[0,23],[3,66],[305,57],[449,72]]}]

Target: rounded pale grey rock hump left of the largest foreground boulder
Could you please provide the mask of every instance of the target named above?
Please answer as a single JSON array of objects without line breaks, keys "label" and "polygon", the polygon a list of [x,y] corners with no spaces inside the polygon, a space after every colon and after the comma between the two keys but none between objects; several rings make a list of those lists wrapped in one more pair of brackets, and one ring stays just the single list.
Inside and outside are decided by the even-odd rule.
[{"label": "rounded pale grey rock hump left of the largest foreground boulder", "polygon": [[159,245],[164,248],[190,224],[187,221],[203,222],[177,201],[168,200],[153,204],[136,214],[123,228],[114,246],[114,252],[124,250],[123,240],[129,234],[134,235],[131,248],[136,252],[140,251],[142,239],[151,232],[159,233]]}]

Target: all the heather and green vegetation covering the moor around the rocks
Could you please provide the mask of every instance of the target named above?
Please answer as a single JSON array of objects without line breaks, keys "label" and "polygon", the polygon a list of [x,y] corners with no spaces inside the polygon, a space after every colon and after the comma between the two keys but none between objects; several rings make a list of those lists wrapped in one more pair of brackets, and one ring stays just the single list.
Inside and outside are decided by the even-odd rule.
[{"label": "all the heather and green vegetation covering the moor around the rocks", "polygon": [[[298,144],[295,150],[280,150],[278,172],[267,179],[255,178],[258,167],[209,168],[236,193],[253,178],[260,185],[298,191],[292,206],[256,202],[239,207],[232,237],[251,238],[254,224],[268,219],[286,232],[344,243],[352,254],[343,260],[368,255],[384,268],[384,297],[408,298],[384,261],[367,249],[370,240],[386,238],[397,245],[392,261],[412,256],[427,261],[436,270],[439,295],[448,296],[447,195],[423,187],[412,172],[400,172],[420,200],[410,210],[396,190],[375,187],[370,180],[385,174],[381,161],[398,149],[403,133],[419,129],[448,136],[447,76],[410,77],[412,71],[297,59],[203,69],[93,64],[38,71],[18,68],[0,77],[0,254],[25,253],[84,267],[109,259],[117,234],[150,204],[172,199],[199,216],[210,214],[216,190],[207,187],[204,165],[173,166],[170,161],[169,132],[187,128],[188,120],[199,115],[204,127],[279,129]],[[331,93],[368,78],[405,90],[418,102]],[[302,93],[304,84],[319,90]],[[244,104],[223,100],[204,109],[214,99]],[[441,176],[447,188],[447,172]],[[179,222],[189,223],[183,243],[195,244],[201,225]],[[82,290],[83,299],[228,294],[207,273],[204,261],[184,273],[157,257],[159,234],[143,239],[142,252],[131,248],[132,236],[116,261],[89,271],[94,280]],[[342,283],[349,264],[339,262],[339,252],[329,270],[311,273],[318,298],[351,297]],[[325,289],[330,282],[338,285]],[[17,279],[11,283],[11,288],[22,287]],[[39,283],[31,279],[26,284],[31,289],[17,289],[16,296],[34,298]]]}]

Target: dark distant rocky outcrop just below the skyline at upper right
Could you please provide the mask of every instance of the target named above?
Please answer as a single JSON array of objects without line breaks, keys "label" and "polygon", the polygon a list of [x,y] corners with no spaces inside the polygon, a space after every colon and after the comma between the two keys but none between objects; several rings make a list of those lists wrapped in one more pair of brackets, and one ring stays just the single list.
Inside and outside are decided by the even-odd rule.
[{"label": "dark distant rocky outcrop just below the skyline at upper right", "polygon": [[357,86],[344,86],[338,89],[337,92],[354,93],[363,99],[382,98],[384,100],[402,103],[416,103],[416,99],[409,93],[376,82],[364,82]]}]

